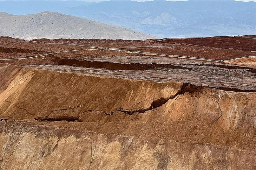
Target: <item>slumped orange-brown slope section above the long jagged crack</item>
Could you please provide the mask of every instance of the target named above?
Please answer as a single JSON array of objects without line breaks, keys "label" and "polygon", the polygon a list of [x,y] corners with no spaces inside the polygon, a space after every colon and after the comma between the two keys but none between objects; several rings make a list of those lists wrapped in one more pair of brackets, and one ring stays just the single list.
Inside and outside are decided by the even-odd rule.
[{"label": "slumped orange-brown slope section above the long jagged crack", "polygon": [[[8,66],[7,66],[8,67]],[[31,115],[111,115],[116,111],[143,113],[164,104],[182,91],[182,83],[93,77],[75,73],[22,68],[1,93],[2,115],[15,119]],[[16,114],[21,112],[24,114]],[[39,118],[38,118],[39,119]],[[83,121],[83,117],[79,117]]]}]

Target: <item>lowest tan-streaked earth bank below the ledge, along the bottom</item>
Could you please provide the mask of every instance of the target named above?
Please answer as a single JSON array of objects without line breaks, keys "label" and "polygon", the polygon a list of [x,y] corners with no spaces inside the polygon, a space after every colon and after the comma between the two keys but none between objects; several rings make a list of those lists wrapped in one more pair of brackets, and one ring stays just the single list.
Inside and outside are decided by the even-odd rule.
[{"label": "lowest tan-streaked earth bank below the ledge, along the bottom", "polygon": [[[0,122],[2,169],[255,169],[255,151]],[[4,164],[5,163],[5,164]]]}]

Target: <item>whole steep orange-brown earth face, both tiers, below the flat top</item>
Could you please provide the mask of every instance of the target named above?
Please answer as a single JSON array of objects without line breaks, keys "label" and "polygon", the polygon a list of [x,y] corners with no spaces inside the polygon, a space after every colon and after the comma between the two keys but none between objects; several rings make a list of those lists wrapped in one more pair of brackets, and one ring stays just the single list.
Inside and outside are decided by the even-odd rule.
[{"label": "whole steep orange-brown earth face, both tiers, below the flat top", "polygon": [[256,168],[255,92],[9,64],[0,75],[3,170]]}]

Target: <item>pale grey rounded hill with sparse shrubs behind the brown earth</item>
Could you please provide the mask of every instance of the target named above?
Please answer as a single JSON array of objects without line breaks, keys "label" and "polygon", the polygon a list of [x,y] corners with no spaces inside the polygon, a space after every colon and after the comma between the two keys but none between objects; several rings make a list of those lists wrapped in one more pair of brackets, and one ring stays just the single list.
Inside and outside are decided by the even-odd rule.
[{"label": "pale grey rounded hill with sparse shrubs behind the brown earth", "polygon": [[34,38],[123,39],[158,38],[138,31],[114,27],[84,18],[55,12],[10,15],[0,12],[0,36]]}]

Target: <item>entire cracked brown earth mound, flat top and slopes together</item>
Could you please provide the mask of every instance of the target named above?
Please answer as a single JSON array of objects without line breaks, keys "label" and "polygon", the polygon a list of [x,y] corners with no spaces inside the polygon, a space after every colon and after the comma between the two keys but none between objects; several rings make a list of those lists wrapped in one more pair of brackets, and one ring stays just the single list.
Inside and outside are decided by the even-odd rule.
[{"label": "entire cracked brown earth mound, flat top and slopes together", "polygon": [[0,170],[256,169],[256,36],[0,37]]}]

